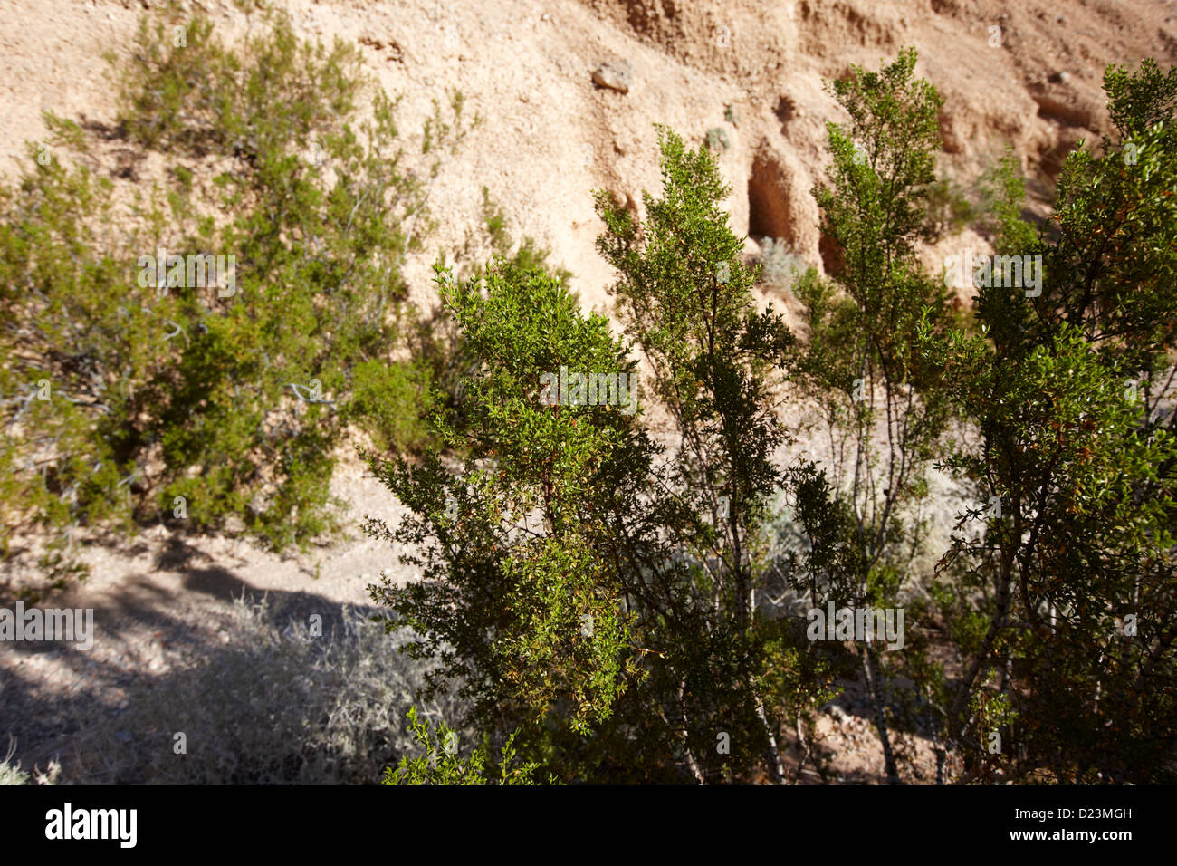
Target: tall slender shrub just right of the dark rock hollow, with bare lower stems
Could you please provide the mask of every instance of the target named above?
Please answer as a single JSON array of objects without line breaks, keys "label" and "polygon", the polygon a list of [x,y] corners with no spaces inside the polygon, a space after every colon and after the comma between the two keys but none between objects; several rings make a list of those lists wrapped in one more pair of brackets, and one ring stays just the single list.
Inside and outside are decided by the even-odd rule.
[{"label": "tall slender shrub just right of the dark rock hollow, with bare lower stems", "polygon": [[[831,183],[813,196],[845,267],[831,280],[810,271],[796,286],[809,341],[792,383],[816,406],[831,458],[802,458],[789,472],[809,540],[789,557],[789,571],[814,607],[906,609],[927,577],[913,563],[929,537],[929,477],[951,409],[942,369],[916,343],[920,328],[940,335],[951,319],[943,283],[916,256],[943,100],[913,78],[915,64],[905,48],[879,72],[855,67],[830,85],[850,123],[826,125]],[[855,652],[887,780],[898,784],[889,674],[906,650],[880,653],[865,641]]]}]

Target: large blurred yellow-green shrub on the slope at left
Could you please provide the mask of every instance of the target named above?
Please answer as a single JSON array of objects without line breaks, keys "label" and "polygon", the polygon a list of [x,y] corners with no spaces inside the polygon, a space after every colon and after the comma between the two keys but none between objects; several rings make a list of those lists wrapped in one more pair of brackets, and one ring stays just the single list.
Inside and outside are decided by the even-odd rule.
[{"label": "large blurred yellow-green shrub on the slope at left", "polygon": [[[411,158],[354,47],[264,18],[237,46],[202,15],[144,19],[117,70],[115,134],[164,157],[160,181],[102,174],[99,134],[51,115],[52,151],[31,146],[0,189],[0,536],[46,530],[59,576],[73,530],[99,523],[305,544],[335,525],[350,419],[420,444],[412,418],[358,416],[428,406],[408,395],[423,368],[391,362],[410,317],[400,269],[467,127],[461,97],[434,103]],[[215,280],[201,254],[224,257]]]}]

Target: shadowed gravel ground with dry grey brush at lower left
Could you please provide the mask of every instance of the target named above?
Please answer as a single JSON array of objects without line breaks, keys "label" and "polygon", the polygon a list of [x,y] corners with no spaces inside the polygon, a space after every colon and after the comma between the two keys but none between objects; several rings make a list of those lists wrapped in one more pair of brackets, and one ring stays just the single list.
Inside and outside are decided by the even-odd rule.
[{"label": "shadowed gravel ground with dry grey brush at lower left", "polygon": [[[182,542],[172,546],[177,547],[186,546]],[[166,553],[168,562],[174,563],[182,557],[188,563],[186,568],[177,569],[182,573],[182,586],[187,593],[199,593],[222,602],[244,599],[250,604],[257,604],[265,597],[268,606],[265,627],[250,622],[247,627],[238,628],[233,621],[233,608],[213,612],[207,622],[200,621],[205,617],[199,607],[188,608],[188,619],[184,619],[171,613],[179,607],[172,593],[154,584],[146,574],[129,577],[112,597],[101,604],[92,604],[95,648],[104,642],[122,644],[118,652],[109,654],[120,661],[104,660],[75,643],[26,641],[5,646],[13,656],[29,660],[46,654],[65,656],[67,667],[74,670],[74,676],[69,679],[72,688],[66,692],[45,682],[32,665],[27,673],[19,661],[0,668],[0,741],[7,746],[9,736],[15,739],[12,760],[19,761],[25,772],[34,766],[45,769],[54,755],[60,755],[64,762],[78,761],[79,756],[72,751],[81,745],[88,755],[87,775],[92,780],[151,782],[151,778],[135,776],[147,765],[140,760],[141,755],[137,758],[128,749],[149,748],[152,761],[171,752],[171,742],[160,739],[167,732],[146,721],[154,716],[144,709],[144,695],[154,694],[160,696],[165,708],[175,705],[179,718],[187,715],[197,719],[188,726],[204,729],[202,736],[197,739],[204,740],[206,752],[210,751],[210,740],[218,743],[217,761],[220,763],[217,763],[217,773],[220,775],[217,778],[239,778],[242,781],[253,778],[248,752],[237,754],[232,747],[232,741],[241,738],[241,725],[246,723],[251,731],[257,731],[258,738],[272,733],[275,751],[290,752],[281,758],[282,766],[288,765],[285,771],[277,765],[261,767],[255,773],[260,779],[307,781],[306,774],[311,772],[307,769],[311,766],[308,761],[312,759],[314,772],[328,772],[322,767],[327,766],[326,759],[331,755],[317,752],[300,756],[298,736],[291,732],[326,729],[325,726],[338,716],[338,707],[333,708],[337,696],[332,689],[346,694],[351,688],[347,680],[355,677],[343,676],[335,668],[346,665],[363,667],[355,655],[355,623],[377,616],[380,609],[374,606],[344,606],[306,591],[262,593],[233,571],[206,564],[201,560],[207,557],[192,549]],[[75,607],[71,603],[73,599],[68,597],[75,595],[68,593],[67,597],[39,607]],[[321,617],[321,622],[312,621],[312,615]],[[310,624],[321,626],[321,637],[311,642],[306,640]],[[145,633],[151,635],[146,642],[142,637]],[[381,666],[386,672],[371,680],[370,689],[381,688],[383,679],[418,683],[420,663],[397,654],[393,637],[381,634],[365,640],[371,641],[371,646],[365,644],[365,655],[375,656],[373,672],[379,673]],[[294,657],[279,657],[291,648],[295,650]],[[154,673],[145,650],[151,650],[152,655],[165,653],[169,667]],[[312,683],[311,696],[307,695],[307,683],[301,682],[307,677]],[[378,716],[365,722],[372,727],[374,752],[371,756],[353,755],[348,760],[377,763],[392,760],[395,749],[392,749],[390,738],[393,733],[397,736],[404,733],[404,712],[412,700],[407,688],[403,687],[401,693],[393,695],[394,700],[385,707],[370,707]],[[175,695],[177,700],[165,700],[166,695]],[[372,702],[363,695],[352,695],[350,700],[357,706]],[[158,715],[157,710],[152,712]],[[251,713],[258,718],[251,720]],[[288,716],[285,722],[282,716]],[[284,723],[290,728],[286,733],[277,729]],[[224,728],[222,735],[215,733],[218,728]],[[189,736],[193,734],[189,733]],[[120,763],[119,768],[112,767],[102,778],[101,768],[91,760],[95,742],[104,760],[114,760],[125,753],[126,768]],[[344,743],[340,748],[347,752]],[[254,746],[252,751],[264,752],[265,747]],[[226,755],[240,766],[222,767],[230,760]],[[195,749],[189,748],[185,758],[195,760]],[[262,759],[264,755],[259,755],[259,760]],[[195,778],[204,778],[200,775],[202,771],[197,772],[195,766]],[[174,772],[173,767],[169,773]],[[68,768],[65,775],[71,775]],[[367,775],[364,778],[375,780]],[[175,781],[171,776],[168,780]]]}]

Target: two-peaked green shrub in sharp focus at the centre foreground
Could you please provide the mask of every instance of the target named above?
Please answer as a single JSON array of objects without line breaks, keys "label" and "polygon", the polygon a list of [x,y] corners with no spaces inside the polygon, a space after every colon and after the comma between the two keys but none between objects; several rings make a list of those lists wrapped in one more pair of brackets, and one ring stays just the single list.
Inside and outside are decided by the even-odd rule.
[{"label": "two-peaked green shrub in sharp focus at the centre foreground", "polygon": [[443,653],[433,682],[465,683],[472,723],[518,728],[520,753],[545,773],[779,778],[765,701],[780,672],[766,660],[810,648],[764,629],[752,597],[766,564],[763,501],[779,481],[767,455],[783,439],[767,382],[791,337],[752,300],[716,157],[665,130],[660,145],[665,190],[647,196],[650,223],[599,193],[599,249],[654,370],[641,398],[661,401],[690,447],[661,450],[623,395],[545,397],[561,368],[625,376],[631,389],[637,370],[630,345],[560,280],[501,260],[464,283],[439,267],[478,364],[466,411],[438,419],[448,422],[438,437],[468,455],[459,468],[440,455],[373,461],[411,514],[395,530],[367,529],[410,546],[403,560],[424,573],[373,597],[414,628],[412,652]]}]

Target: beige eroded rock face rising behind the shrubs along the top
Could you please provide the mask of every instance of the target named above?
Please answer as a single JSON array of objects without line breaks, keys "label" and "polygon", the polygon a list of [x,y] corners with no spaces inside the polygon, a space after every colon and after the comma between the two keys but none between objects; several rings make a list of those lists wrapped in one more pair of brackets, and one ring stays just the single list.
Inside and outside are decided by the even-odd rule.
[{"label": "beige eroded rock face rising behind the shrubs along the top", "polygon": [[[0,2],[0,154],[24,159],[44,135],[42,108],[113,115],[104,51],[125,52],[142,2]],[[228,2],[199,4],[226,35],[248,21]],[[1079,138],[1106,128],[1100,82],[1111,62],[1172,62],[1177,11],[1159,0],[291,0],[306,37],[360,45],[407,121],[457,87],[486,123],[432,196],[439,234],[428,265],[477,225],[479,186],[518,232],[551,245],[585,304],[607,309],[612,275],[593,242],[591,191],[641,210],[659,186],[654,124],[692,141],[720,127],[738,232],[782,237],[820,264],[810,191],[825,164],[825,123],[839,120],[823,79],[877,67],[906,45],[945,98],[944,171],[967,181],[1006,144],[1052,179]],[[605,65],[603,67],[603,65]],[[601,70],[605,70],[601,72]],[[611,84],[594,84],[607,78]],[[603,78],[604,75],[604,78]],[[732,106],[738,125],[725,119]],[[13,164],[5,160],[5,171]]]}]

